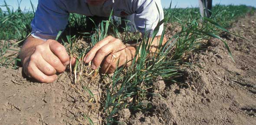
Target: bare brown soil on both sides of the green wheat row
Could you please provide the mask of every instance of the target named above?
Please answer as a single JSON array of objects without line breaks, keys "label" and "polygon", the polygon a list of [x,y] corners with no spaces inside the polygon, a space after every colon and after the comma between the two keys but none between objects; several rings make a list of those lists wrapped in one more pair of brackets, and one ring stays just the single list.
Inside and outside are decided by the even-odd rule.
[{"label": "bare brown soil on both sides of the green wheat row", "polygon": [[[236,63],[220,40],[203,45],[205,50],[189,57],[184,84],[154,83],[149,112],[123,109],[118,119],[127,125],[256,125],[256,16],[247,15],[230,31],[247,38],[222,34]],[[29,81],[17,70],[0,67],[0,125],[88,125],[102,117],[102,84],[89,75],[71,84],[69,73],[52,84]],[[83,87],[89,88],[95,100]],[[100,115],[99,115],[100,114]]]}]

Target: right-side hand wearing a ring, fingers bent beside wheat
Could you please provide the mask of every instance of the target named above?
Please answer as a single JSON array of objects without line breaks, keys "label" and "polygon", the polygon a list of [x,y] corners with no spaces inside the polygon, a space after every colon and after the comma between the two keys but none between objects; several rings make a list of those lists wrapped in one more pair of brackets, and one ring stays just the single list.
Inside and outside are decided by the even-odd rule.
[{"label": "right-side hand wearing a ring, fingers bent beside wheat", "polygon": [[103,62],[101,72],[110,74],[113,73],[117,67],[125,64],[126,66],[131,65],[135,52],[134,47],[126,47],[121,40],[108,36],[92,47],[85,55],[84,62],[89,63],[92,61],[92,69],[98,69]]}]

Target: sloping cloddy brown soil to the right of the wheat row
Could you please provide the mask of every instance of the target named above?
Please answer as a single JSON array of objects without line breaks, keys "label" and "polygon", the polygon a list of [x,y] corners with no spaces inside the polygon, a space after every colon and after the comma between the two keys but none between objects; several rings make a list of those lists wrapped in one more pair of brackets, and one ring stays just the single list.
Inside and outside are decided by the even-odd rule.
[{"label": "sloping cloddy brown soil to the right of the wheat row", "polygon": [[[212,39],[206,50],[193,53],[191,66],[184,69],[178,84],[160,85],[155,91],[150,112],[137,112],[128,125],[256,125],[256,16],[247,15],[233,24],[230,31],[248,39],[222,34],[236,63],[222,41]],[[162,81],[163,82],[163,81]],[[186,86],[185,85],[185,86]],[[128,112],[130,114],[130,112]]]}]

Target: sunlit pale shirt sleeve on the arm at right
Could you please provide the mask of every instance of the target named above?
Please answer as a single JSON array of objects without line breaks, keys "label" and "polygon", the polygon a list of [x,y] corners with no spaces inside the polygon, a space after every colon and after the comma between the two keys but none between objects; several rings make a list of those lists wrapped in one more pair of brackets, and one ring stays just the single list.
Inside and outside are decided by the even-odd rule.
[{"label": "sunlit pale shirt sleeve on the arm at right", "polygon": [[[135,12],[134,22],[138,31],[143,35],[149,34],[152,37],[154,28],[158,22],[164,19],[164,11],[160,0],[133,0],[132,9]],[[159,12],[158,12],[159,9]],[[162,34],[164,25],[159,28],[157,36]]]}]

